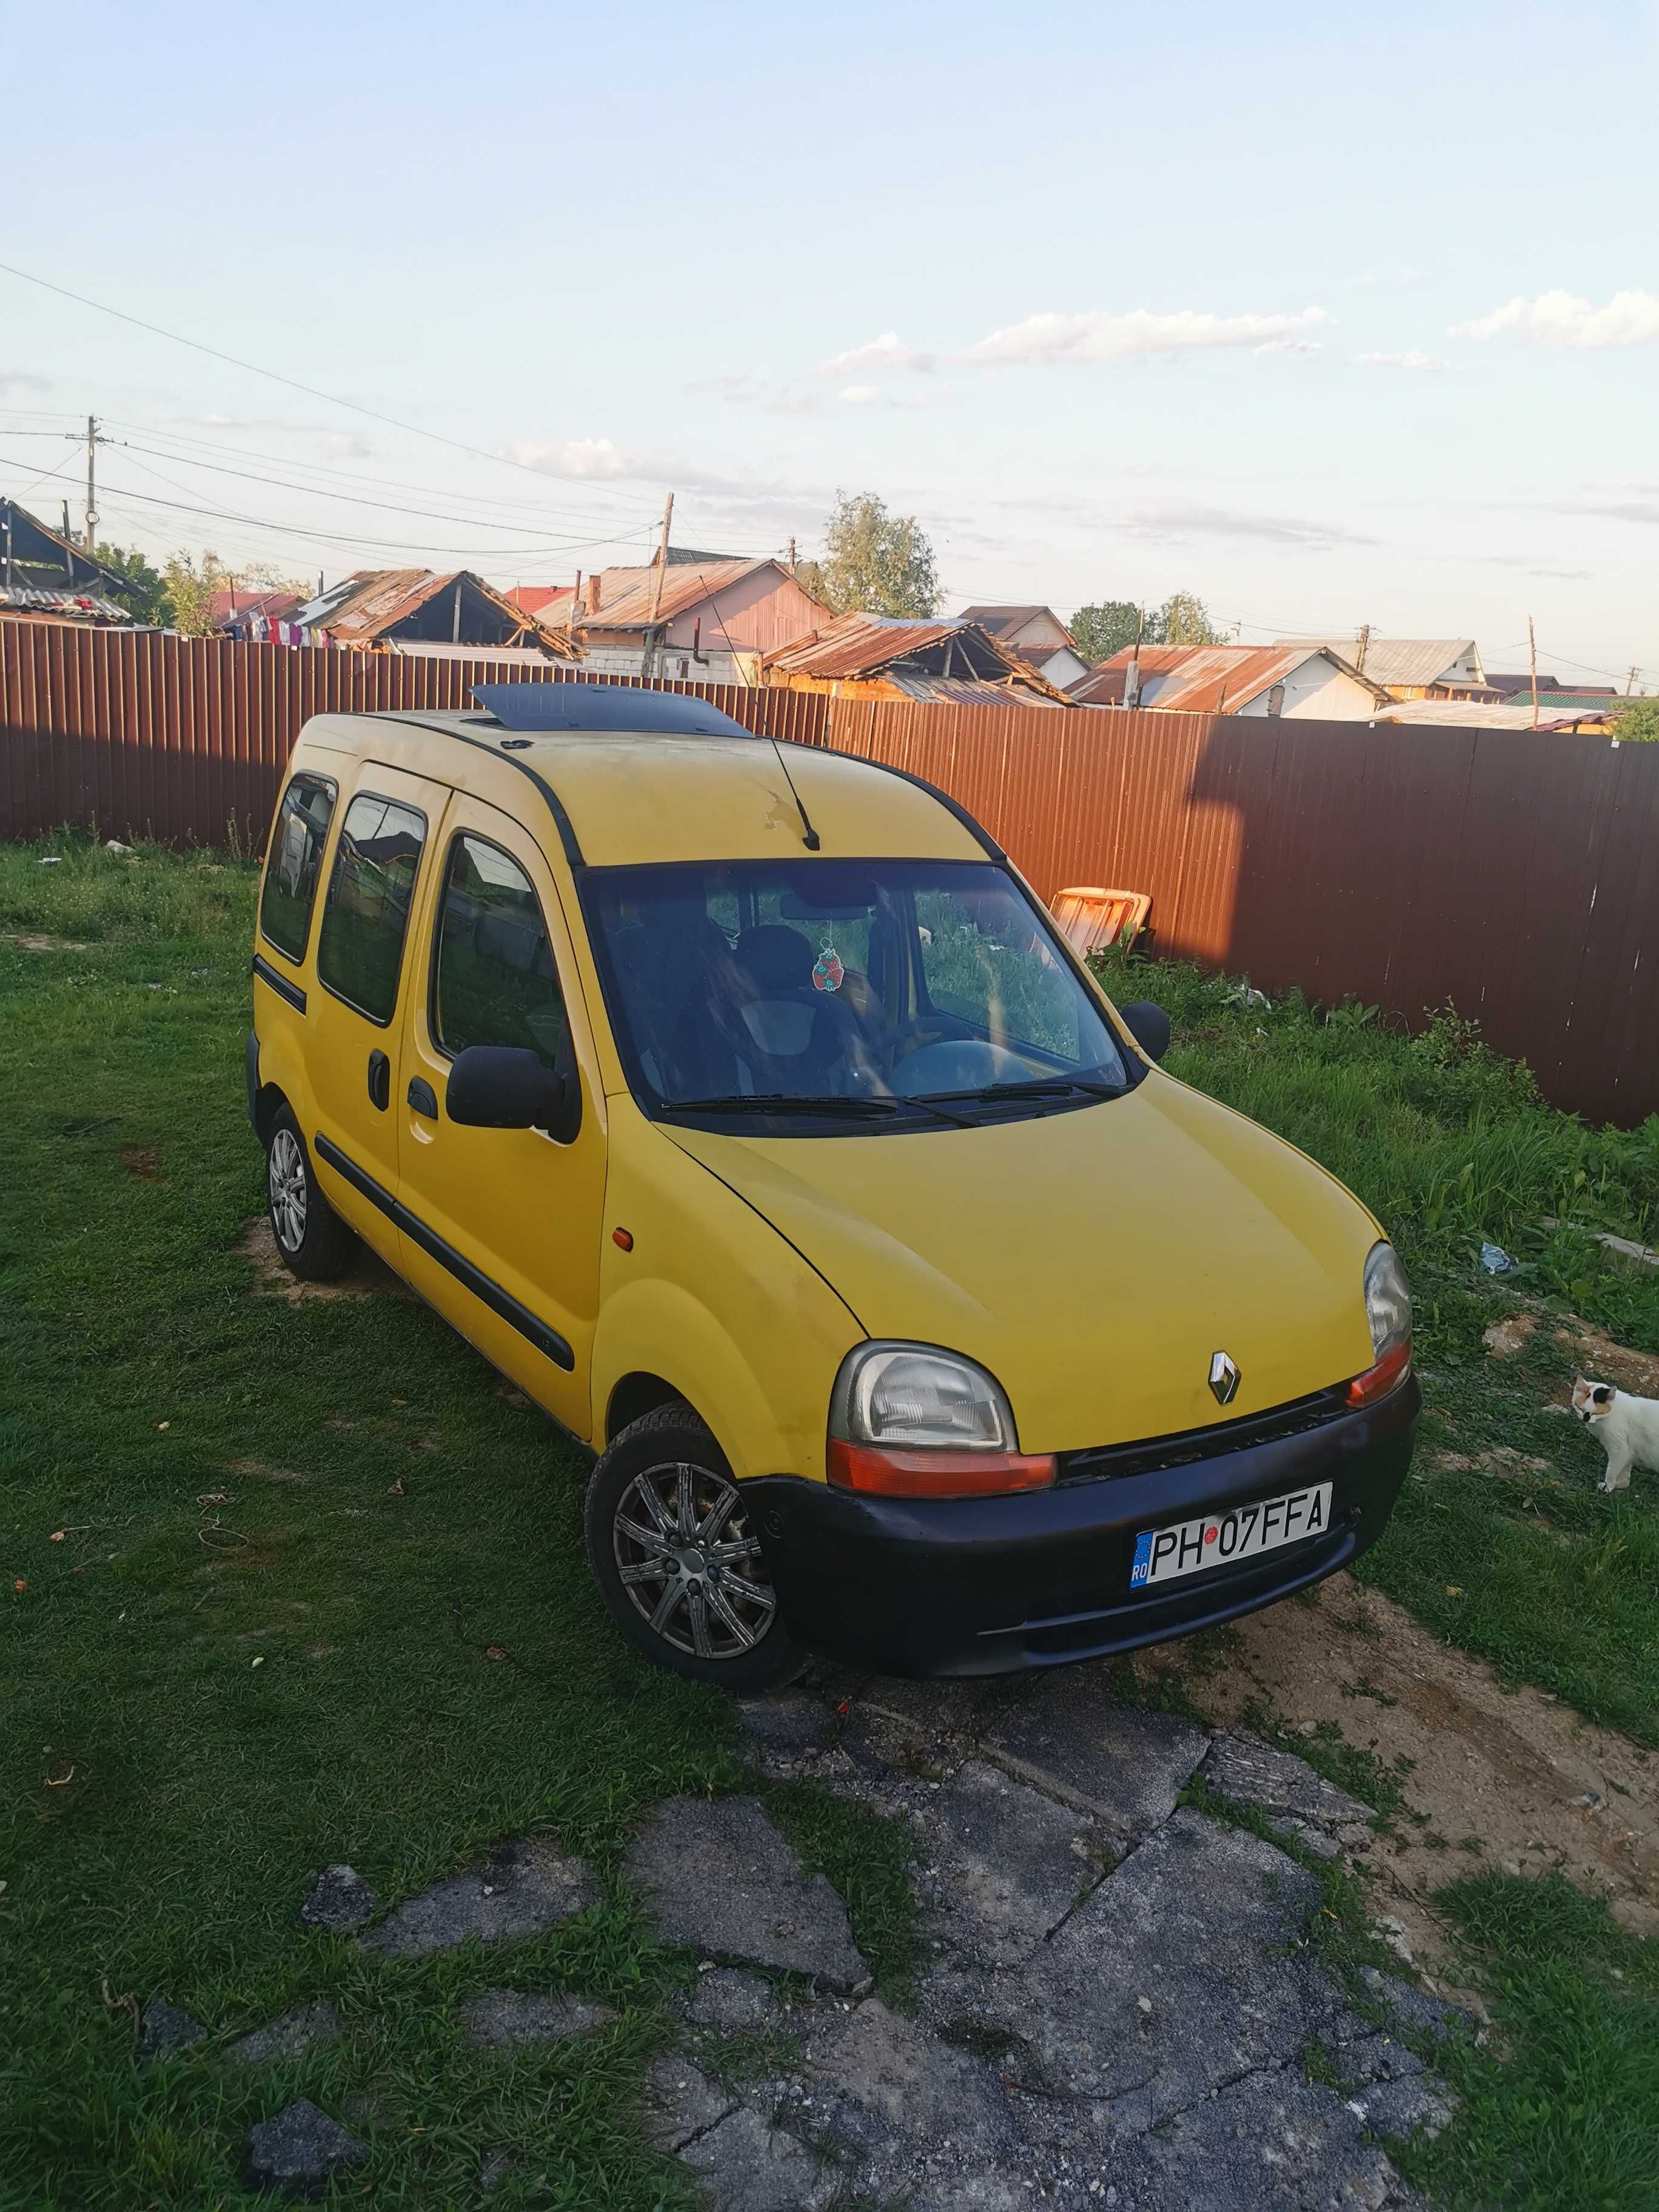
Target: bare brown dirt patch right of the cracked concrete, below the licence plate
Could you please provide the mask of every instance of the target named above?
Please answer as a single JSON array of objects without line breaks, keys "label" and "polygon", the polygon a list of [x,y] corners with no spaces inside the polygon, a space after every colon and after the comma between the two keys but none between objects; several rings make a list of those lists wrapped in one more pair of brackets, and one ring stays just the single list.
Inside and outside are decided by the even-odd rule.
[{"label": "bare brown dirt patch right of the cracked concrete, below the licence plate", "polygon": [[1228,1663],[1188,1679],[1210,1719],[1239,1721],[1265,1701],[1292,1730],[1290,1750],[1301,1750],[1296,1730],[1334,1721],[1398,1774],[1409,1814],[1422,1816],[1396,1816],[1369,1854],[1413,1949],[1444,1955],[1429,1893],[1480,1867],[1559,1867],[1626,1927],[1659,1933],[1659,1756],[1546,1692],[1504,1690],[1480,1659],[1347,1575],[1323,1584],[1318,1604],[1272,1606],[1234,1632]]}]

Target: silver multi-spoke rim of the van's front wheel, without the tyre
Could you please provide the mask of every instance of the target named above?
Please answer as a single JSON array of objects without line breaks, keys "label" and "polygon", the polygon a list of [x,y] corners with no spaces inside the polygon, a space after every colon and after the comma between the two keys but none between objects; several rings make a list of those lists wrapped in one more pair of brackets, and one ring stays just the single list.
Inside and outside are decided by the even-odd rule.
[{"label": "silver multi-spoke rim of the van's front wheel, without the tyre", "polygon": [[611,1522],[617,1577],[635,1610],[675,1650],[737,1659],[776,1617],[737,1484],[672,1460],[635,1475]]}]

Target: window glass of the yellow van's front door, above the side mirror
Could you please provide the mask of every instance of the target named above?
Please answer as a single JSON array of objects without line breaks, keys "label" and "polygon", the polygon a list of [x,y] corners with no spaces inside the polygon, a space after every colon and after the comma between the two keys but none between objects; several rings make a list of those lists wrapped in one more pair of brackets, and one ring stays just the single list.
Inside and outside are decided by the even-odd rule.
[{"label": "window glass of the yellow van's front door, above the side mirror", "polygon": [[564,1044],[564,993],[535,891],[498,845],[449,847],[431,962],[431,1035],[442,1053],[518,1044],[551,1068]]}]

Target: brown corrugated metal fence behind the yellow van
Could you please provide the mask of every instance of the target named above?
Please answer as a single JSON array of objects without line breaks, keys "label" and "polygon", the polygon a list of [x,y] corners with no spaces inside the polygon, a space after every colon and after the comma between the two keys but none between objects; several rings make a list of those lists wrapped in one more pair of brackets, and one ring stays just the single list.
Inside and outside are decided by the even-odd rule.
[{"label": "brown corrugated metal fence behind the yellow van", "polygon": [[[257,847],[310,714],[467,706],[526,672],[0,622],[0,836],[234,825]],[[1659,1110],[1659,745],[666,688],[927,776],[1044,898],[1150,891],[1161,951],[1407,1020],[1453,1002],[1557,1104]]]}]

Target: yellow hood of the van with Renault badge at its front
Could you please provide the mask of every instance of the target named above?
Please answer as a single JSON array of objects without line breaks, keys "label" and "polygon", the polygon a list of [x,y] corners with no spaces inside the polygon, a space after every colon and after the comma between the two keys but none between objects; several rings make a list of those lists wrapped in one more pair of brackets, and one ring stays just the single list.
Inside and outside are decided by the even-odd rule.
[{"label": "yellow hood of the van with Renault badge at its front", "polygon": [[[1292,1146],[1168,1075],[998,1128],[672,1137],[869,1336],[989,1367],[1022,1451],[1237,1420],[1371,1365],[1371,1217]],[[1217,1352],[1241,1371],[1225,1409],[1208,1387]]]}]

